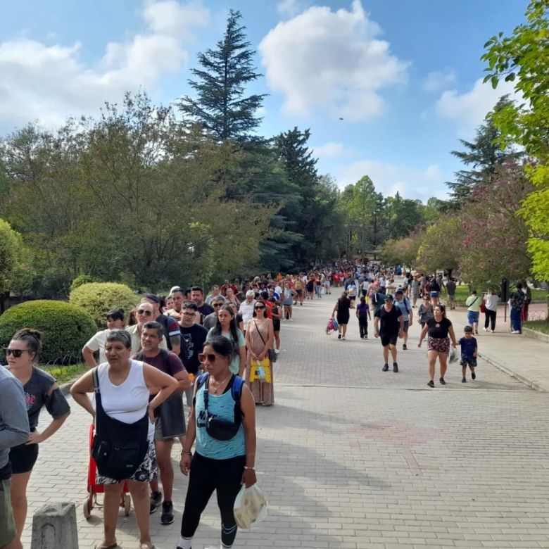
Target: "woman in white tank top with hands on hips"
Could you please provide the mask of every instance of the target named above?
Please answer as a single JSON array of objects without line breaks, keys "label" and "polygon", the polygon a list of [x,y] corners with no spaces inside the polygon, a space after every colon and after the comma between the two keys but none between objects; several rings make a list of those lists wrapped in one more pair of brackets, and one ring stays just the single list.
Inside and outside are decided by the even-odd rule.
[{"label": "woman in white tank top with hands on hips", "polygon": [[[158,368],[132,360],[130,334],[115,329],[105,343],[107,362],[86,372],[75,381],[70,394],[75,402],[96,420],[93,453],[97,462],[97,484],[105,485],[103,502],[104,538],[96,549],[113,549],[116,544],[116,522],[122,492],[122,481],[127,480],[134,501],[139,526],[139,549],[153,549],[149,532],[149,482],[156,474],[154,450],[154,410],[177,389],[177,380]],[[94,379],[95,378],[95,379]],[[87,393],[96,387],[95,407]],[[149,403],[149,391],[158,391]],[[122,456],[113,450],[109,438],[115,434],[118,446],[138,448],[131,457],[137,462],[127,474],[115,474]],[[125,440],[124,440],[125,439]],[[144,451],[141,450],[144,448]],[[134,454],[136,452],[136,454]],[[141,453],[143,457],[141,457]],[[125,457],[129,457],[126,455]],[[108,476],[108,472],[113,476]]]}]

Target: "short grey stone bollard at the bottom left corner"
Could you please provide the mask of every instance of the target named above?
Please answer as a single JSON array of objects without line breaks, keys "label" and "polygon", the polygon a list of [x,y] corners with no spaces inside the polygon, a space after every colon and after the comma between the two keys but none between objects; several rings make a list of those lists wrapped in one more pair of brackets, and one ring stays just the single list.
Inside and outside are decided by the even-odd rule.
[{"label": "short grey stone bollard at the bottom left corner", "polygon": [[32,517],[31,549],[78,549],[76,508],[72,501],[44,505]]}]

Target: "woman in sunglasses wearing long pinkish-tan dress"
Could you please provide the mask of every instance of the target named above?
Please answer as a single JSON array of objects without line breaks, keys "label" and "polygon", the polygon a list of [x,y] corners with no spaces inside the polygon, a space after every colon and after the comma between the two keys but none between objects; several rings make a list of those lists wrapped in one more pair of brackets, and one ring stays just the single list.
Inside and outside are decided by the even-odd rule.
[{"label": "woman in sunglasses wearing long pinkish-tan dress", "polygon": [[[248,320],[246,327],[246,348],[248,349],[246,383],[250,386],[256,404],[271,406],[274,404],[274,390],[269,350],[272,348],[274,330],[272,320],[267,317],[265,302],[256,301],[253,309],[253,318]],[[265,370],[268,369],[268,372],[265,372],[264,381],[256,379],[255,369],[252,372],[252,367],[258,362],[263,362]]]}]

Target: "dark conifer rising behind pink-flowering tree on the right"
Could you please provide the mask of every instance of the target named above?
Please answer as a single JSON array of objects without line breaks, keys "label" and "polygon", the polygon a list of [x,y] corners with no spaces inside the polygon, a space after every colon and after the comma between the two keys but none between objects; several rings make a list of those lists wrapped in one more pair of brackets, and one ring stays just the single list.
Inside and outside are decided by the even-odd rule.
[{"label": "dark conifer rising behind pink-flowering tree on the right", "polygon": [[[497,115],[498,112],[512,106],[512,104],[509,96],[505,95],[500,98],[493,112]],[[452,151],[453,156],[470,167],[469,170],[455,172],[455,181],[447,183],[452,191],[450,196],[452,196],[455,204],[461,205],[478,184],[493,179],[496,168],[502,165],[505,160],[522,156],[522,153],[512,151],[510,145],[502,149],[498,144],[499,136],[500,130],[490,117],[486,124],[482,124],[477,128],[474,141],[460,139],[465,151]]]}]

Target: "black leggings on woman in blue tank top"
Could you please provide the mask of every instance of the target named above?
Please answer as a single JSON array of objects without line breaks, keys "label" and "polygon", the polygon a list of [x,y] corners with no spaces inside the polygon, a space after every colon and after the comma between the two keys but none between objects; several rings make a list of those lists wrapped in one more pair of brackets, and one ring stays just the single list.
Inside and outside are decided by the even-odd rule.
[{"label": "black leggings on woman in blue tank top", "polygon": [[231,547],[236,538],[236,521],[232,509],[241,488],[244,465],[245,455],[231,457],[229,460],[213,460],[198,453],[194,454],[181,519],[181,535],[184,538],[194,536],[200,515],[215,490],[217,506],[221,512],[221,541]]}]

